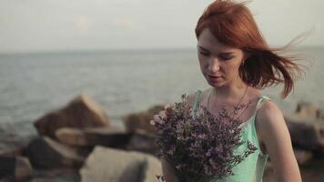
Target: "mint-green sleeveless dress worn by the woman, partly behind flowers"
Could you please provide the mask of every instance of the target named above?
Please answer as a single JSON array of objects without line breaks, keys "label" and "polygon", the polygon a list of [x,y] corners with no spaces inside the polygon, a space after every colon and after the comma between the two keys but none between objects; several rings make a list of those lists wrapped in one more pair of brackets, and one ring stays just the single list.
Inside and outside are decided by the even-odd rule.
[{"label": "mint-green sleeveless dress worn by the woman, partly behind flowers", "polygon": [[[193,114],[197,111],[197,103],[199,101],[199,96],[201,91],[197,91],[196,100],[193,105]],[[258,99],[257,108],[254,111],[253,116],[251,116],[247,122],[241,125],[242,133],[241,139],[245,142],[243,145],[234,150],[234,154],[242,154],[248,147],[247,141],[250,141],[258,149],[250,154],[245,160],[238,164],[238,166],[233,167],[233,172],[235,175],[228,176],[222,179],[211,179],[208,182],[262,182],[263,172],[268,160],[268,154],[263,154],[258,145],[258,136],[255,127],[255,118],[259,104],[264,99],[270,99],[268,96],[261,96]]]}]

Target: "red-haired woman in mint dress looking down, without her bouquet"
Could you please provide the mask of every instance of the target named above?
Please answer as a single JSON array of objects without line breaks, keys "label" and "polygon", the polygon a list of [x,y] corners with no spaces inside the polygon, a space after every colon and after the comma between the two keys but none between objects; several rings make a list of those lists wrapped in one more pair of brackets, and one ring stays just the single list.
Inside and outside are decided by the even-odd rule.
[{"label": "red-haired woman in mint dress looking down, without her bouquet", "polygon": [[[268,47],[244,3],[217,0],[208,5],[197,22],[196,35],[201,72],[211,87],[189,95],[189,105],[199,103],[217,116],[223,106],[230,110],[251,103],[234,116],[246,121],[242,137],[258,150],[234,168],[234,176],[222,181],[262,181],[268,158],[279,182],[301,181],[284,117],[278,106],[260,93],[264,87],[284,83],[281,96],[288,96],[294,78],[302,71],[294,63],[296,58],[279,56],[282,49]],[[165,116],[165,111],[154,120],[158,116]],[[162,168],[167,182],[177,181],[164,158]]]}]

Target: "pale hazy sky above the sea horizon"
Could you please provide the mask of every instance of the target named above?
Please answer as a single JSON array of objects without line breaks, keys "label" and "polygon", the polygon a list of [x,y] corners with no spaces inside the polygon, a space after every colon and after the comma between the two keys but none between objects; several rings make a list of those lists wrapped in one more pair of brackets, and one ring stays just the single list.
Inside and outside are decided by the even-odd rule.
[{"label": "pale hazy sky above the sea horizon", "polygon": [[[0,0],[0,53],[194,48],[211,0]],[[324,1],[248,4],[269,45],[324,46]]]}]

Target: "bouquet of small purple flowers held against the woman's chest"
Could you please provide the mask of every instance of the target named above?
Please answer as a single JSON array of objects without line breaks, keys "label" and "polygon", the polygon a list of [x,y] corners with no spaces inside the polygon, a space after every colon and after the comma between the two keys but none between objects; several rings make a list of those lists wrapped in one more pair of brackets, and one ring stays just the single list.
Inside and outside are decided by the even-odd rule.
[{"label": "bouquet of small purple flowers held against the woman's chest", "polygon": [[[157,128],[160,155],[173,167],[179,182],[208,181],[233,175],[233,167],[256,150],[250,142],[239,155],[233,151],[244,144],[240,139],[242,121],[229,116],[223,108],[213,116],[205,106],[198,105],[196,115],[187,105],[187,96],[166,108],[166,116],[153,120]],[[235,107],[234,112],[243,106]],[[157,176],[164,181],[164,177]]]}]

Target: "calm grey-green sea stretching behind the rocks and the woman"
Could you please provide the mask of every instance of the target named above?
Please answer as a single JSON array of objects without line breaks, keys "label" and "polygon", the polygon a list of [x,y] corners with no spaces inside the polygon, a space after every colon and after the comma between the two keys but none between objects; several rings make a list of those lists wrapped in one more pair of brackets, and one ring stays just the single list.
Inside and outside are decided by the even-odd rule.
[{"label": "calm grey-green sea stretching behind the rocks and the woman", "polygon": [[[324,47],[296,50],[307,66],[293,92],[280,98],[283,85],[263,94],[284,113],[300,101],[324,107]],[[180,100],[182,94],[208,88],[200,72],[197,50],[66,51],[0,55],[0,150],[36,136],[33,123],[85,93],[113,124],[121,116]]]}]

